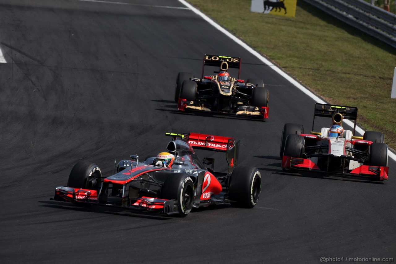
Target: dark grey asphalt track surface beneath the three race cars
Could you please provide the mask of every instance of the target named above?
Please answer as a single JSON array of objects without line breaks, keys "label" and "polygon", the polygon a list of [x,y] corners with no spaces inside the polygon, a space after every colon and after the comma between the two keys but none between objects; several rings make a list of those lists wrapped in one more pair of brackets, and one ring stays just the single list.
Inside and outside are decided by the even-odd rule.
[{"label": "dark grey asphalt track surface beneath the three race cars", "polygon": [[[0,48],[1,263],[396,257],[395,162],[385,183],[282,172],[283,124],[310,130],[314,101],[180,2],[1,0]],[[270,119],[177,111],[177,73],[199,76],[205,53],[242,57],[241,78],[270,90]],[[241,140],[239,163],[263,176],[257,206],[177,218],[49,200],[79,160],[109,176],[114,159],[164,151],[165,132]]]}]

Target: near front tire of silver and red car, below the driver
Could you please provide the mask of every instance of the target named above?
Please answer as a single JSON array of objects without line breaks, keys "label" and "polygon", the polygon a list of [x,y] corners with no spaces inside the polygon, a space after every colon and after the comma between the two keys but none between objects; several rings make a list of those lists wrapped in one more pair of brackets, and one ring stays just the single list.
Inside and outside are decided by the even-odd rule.
[{"label": "near front tire of silver and red car, below the driver", "polygon": [[194,182],[187,174],[170,175],[161,187],[161,198],[177,200],[179,216],[185,217],[191,211],[194,203]]}]

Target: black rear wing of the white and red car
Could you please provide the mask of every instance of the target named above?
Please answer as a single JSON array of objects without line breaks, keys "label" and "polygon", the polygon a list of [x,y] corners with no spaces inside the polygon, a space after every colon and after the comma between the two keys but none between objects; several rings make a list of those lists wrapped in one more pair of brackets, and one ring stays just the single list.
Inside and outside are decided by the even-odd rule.
[{"label": "black rear wing of the white and red car", "polygon": [[315,103],[314,120],[312,122],[312,131],[314,130],[315,117],[330,117],[335,113],[340,113],[343,119],[354,121],[353,134],[356,129],[356,119],[358,118],[358,107],[344,105],[329,105],[325,103]]}]

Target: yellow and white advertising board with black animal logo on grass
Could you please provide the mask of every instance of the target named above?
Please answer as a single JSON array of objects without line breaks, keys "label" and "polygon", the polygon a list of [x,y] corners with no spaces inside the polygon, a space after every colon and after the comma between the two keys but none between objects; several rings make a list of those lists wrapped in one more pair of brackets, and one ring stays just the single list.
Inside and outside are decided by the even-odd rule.
[{"label": "yellow and white advertising board with black animal logo on grass", "polygon": [[251,0],[250,11],[295,17],[297,0]]}]

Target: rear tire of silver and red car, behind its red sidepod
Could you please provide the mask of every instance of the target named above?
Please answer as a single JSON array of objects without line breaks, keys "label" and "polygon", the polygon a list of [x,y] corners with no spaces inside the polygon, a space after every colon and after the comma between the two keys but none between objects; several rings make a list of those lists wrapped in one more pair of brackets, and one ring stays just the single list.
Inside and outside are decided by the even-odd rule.
[{"label": "rear tire of silver and red car, behind its red sidepod", "polygon": [[252,166],[236,166],[230,176],[229,198],[232,207],[253,208],[261,193],[261,174]]}]

